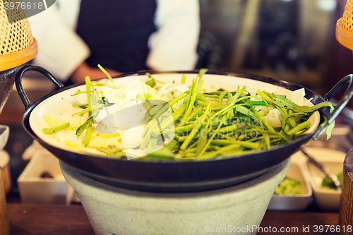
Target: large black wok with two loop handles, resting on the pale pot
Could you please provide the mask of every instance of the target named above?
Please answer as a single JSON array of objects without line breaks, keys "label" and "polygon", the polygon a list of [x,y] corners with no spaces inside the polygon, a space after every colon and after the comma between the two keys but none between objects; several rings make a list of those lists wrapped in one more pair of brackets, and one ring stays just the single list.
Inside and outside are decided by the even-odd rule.
[{"label": "large black wok with two loop handles, resting on the pale pot", "polygon": [[[40,100],[30,104],[28,97],[22,86],[22,76],[26,71],[38,71],[52,80],[59,90],[42,97]],[[186,71],[177,73],[197,73],[197,71]],[[141,73],[142,74],[142,73]],[[271,83],[278,87],[287,88],[288,90],[297,90],[303,88],[301,85],[290,83],[285,80],[270,78],[266,76],[258,76],[248,73],[234,73],[225,71],[209,71],[208,74],[218,74],[229,76],[229,79],[236,76],[249,80],[260,80],[265,83]],[[116,78],[121,78],[118,76]],[[345,107],[347,102],[353,95],[352,75],[342,78],[335,87],[328,92],[325,97],[321,97],[315,92],[306,89],[306,98],[313,97],[311,102],[317,104],[325,100],[330,100],[341,88],[348,85],[344,97],[335,107],[335,111],[330,114],[328,108],[320,110],[321,123],[323,116],[326,116],[328,123],[321,126],[313,133],[297,138],[291,143],[271,147],[269,150],[263,150],[250,155],[241,155],[237,157],[226,157],[225,159],[213,159],[198,162],[170,162],[170,161],[135,161],[124,159],[112,159],[107,157],[97,157],[93,155],[85,155],[82,153],[64,150],[47,143],[44,139],[39,138],[32,130],[30,116],[40,103],[56,94],[61,94],[67,89],[74,88],[77,85],[64,88],[58,80],[54,78],[44,68],[38,66],[25,66],[18,71],[16,75],[16,88],[23,104],[25,105],[25,114],[23,115],[23,126],[25,130],[37,140],[41,145],[46,147],[56,157],[66,164],[76,167],[81,173],[90,176],[93,179],[109,183],[114,186],[131,188],[141,191],[164,191],[164,192],[186,192],[186,191],[203,191],[215,188],[231,186],[237,183],[248,181],[256,176],[260,176],[277,164],[288,159],[290,155],[299,150],[311,139],[318,138],[328,124],[334,121],[338,114]],[[228,78],[227,78],[228,79]],[[217,83],[217,81],[215,81]],[[53,104],[55,105],[55,104]]]}]

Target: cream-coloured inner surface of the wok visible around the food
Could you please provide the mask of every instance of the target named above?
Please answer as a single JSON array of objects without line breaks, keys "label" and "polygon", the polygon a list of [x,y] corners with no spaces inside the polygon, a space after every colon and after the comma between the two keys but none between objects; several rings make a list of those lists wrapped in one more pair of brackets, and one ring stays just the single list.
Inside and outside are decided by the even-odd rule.
[{"label": "cream-coloured inner surface of the wok visible around the food", "polygon": [[[197,73],[188,73],[186,75],[186,85],[191,85],[193,78],[196,78]],[[154,74],[153,77],[156,80],[160,80],[167,83],[181,83],[181,73],[165,73],[165,74]],[[139,76],[128,76],[127,78],[115,78],[114,83],[118,85],[119,83],[125,80],[142,80],[147,81],[149,80],[148,76],[139,75]],[[229,92],[237,90],[238,86],[242,87],[246,85],[247,90],[251,90],[256,93],[256,90],[265,90],[267,92],[275,92],[281,93],[282,95],[287,95],[289,100],[292,100],[292,90],[288,90],[286,88],[282,88],[277,85],[273,85],[270,83],[265,83],[259,80],[251,80],[247,78],[239,78],[239,77],[231,77],[231,76],[224,76],[224,75],[215,75],[215,74],[205,74],[203,76],[204,85],[203,88],[207,92],[216,91],[217,89],[224,89]],[[46,100],[42,101],[40,104],[33,109],[30,115],[30,126],[32,131],[37,135],[40,139],[47,142],[49,145],[53,145],[64,150],[73,151],[73,152],[82,152],[80,150],[73,149],[60,143],[58,140],[54,138],[54,135],[48,135],[43,133],[43,128],[49,128],[50,126],[44,120],[44,115],[49,115],[55,117],[56,119],[60,120],[70,120],[71,114],[80,112],[79,107],[73,107],[72,104],[85,104],[87,103],[87,96],[85,94],[80,94],[76,96],[71,96],[75,94],[75,92],[80,89],[84,91],[85,85],[80,85],[75,88],[71,88],[68,90],[64,90],[63,92],[59,92],[56,95],[48,97]],[[306,98],[304,98],[306,100]],[[307,101],[307,100],[306,100]],[[311,102],[308,102],[309,106],[313,105]],[[320,123],[320,114],[318,112],[314,112],[311,116],[311,126],[306,133],[312,133],[313,131],[318,128]],[[104,154],[99,151],[92,150],[91,148],[85,148],[83,150],[86,154],[92,155],[102,155]]]}]

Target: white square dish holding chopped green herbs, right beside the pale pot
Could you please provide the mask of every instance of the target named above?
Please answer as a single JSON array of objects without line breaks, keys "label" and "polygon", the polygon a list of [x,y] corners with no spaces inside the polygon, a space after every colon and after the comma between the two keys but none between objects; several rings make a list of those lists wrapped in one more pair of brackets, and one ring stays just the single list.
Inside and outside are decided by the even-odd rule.
[{"label": "white square dish holding chopped green herbs, right beside the pale pot", "polygon": [[292,157],[287,177],[301,182],[301,194],[273,195],[268,205],[268,210],[305,210],[308,207],[313,191],[302,161]]}]

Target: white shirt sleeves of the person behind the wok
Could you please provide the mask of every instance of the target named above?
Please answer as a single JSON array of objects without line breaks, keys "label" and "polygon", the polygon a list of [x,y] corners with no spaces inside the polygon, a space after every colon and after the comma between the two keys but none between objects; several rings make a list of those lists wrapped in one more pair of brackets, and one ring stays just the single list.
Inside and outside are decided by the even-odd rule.
[{"label": "white shirt sleeves of the person behind the wok", "polygon": [[[156,0],[156,32],[148,39],[146,65],[159,71],[195,68],[200,32],[198,0]],[[28,18],[38,43],[34,63],[60,80],[90,56],[90,49],[77,35],[80,0],[56,0],[54,6]]]}]

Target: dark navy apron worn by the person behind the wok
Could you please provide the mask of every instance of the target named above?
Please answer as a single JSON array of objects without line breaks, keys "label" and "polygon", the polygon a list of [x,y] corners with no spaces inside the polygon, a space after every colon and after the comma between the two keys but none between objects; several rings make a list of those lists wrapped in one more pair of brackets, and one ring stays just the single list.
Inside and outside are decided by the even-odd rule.
[{"label": "dark navy apron worn by the person behind the wok", "polygon": [[123,73],[148,69],[155,9],[155,0],[82,0],[77,33],[90,47],[86,62]]}]

